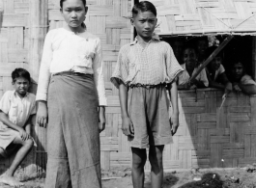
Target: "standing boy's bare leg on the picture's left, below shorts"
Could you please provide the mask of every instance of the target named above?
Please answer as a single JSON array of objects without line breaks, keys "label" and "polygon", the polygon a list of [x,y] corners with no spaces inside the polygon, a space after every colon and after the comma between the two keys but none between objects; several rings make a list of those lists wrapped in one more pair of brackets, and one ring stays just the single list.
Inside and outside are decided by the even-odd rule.
[{"label": "standing boy's bare leg on the picture's left, below shorts", "polygon": [[146,148],[131,148],[132,151],[132,184],[133,188],[144,188],[144,166],[147,160]]}]

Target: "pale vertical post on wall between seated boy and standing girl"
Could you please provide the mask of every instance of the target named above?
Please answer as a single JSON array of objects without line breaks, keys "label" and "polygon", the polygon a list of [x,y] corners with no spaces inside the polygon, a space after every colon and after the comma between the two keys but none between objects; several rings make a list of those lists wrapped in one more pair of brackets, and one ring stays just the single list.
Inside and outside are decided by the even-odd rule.
[{"label": "pale vertical post on wall between seated boy and standing girl", "polygon": [[[29,1],[29,70],[38,83],[43,41],[48,30],[48,0]],[[35,86],[33,93],[35,93]]]}]

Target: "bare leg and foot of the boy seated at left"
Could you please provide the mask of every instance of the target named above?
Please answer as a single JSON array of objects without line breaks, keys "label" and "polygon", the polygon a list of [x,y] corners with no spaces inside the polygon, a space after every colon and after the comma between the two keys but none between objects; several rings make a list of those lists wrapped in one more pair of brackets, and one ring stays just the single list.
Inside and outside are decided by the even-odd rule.
[{"label": "bare leg and foot of the boy seated at left", "polygon": [[16,171],[18,165],[23,161],[25,156],[28,154],[30,149],[33,147],[33,141],[32,141],[32,139],[22,141],[21,138],[17,137],[14,139],[13,144],[21,145],[21,148],[19,148],[19,150],[17,151],[17,153],[14,157],[14,161],[13,161],[11,167],[9,168],[9,170],[5,173],[5,175],[2,175],[0,177],[0,182],[8,184],[10,186],[19,187],[19,186],[22,186],[23,183],[17,181],[14,178],[14,172]]}]

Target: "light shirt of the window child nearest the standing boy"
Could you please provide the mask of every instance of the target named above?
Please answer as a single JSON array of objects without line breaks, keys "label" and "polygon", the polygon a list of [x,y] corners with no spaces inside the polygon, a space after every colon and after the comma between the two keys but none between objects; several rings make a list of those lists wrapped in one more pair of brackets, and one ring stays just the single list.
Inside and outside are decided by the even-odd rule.
[{"label": "light shirt of the window child nearest the standing boy", "polygon": [[[188,81],[190,79],[190,76],[189,76],[189,74],[188,74],[188,72],[185,68],[185,64],[183,64],[181,66],[185,69],[185,71],[183,71],[181,74],[179,74],[179,76],[178,76],[178,85],[185,85],[185,84],[188,83]],[[198,67],[194,68],[192,75],[195,74],[195,72],[197,71],[197,68]],[[206,74],[205,68],[202,69],[202,71],[196,76],[195,79],[198,80],[198,81],[202,81],[206,87],[209,86],[209,81],[207,79],[207,74]]]}]

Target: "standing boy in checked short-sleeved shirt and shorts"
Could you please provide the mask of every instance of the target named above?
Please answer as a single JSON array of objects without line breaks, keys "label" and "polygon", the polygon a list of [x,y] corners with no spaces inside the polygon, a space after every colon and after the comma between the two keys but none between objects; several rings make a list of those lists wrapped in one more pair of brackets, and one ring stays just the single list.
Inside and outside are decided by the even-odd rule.
[{"label": "standing boy in checked short-sleeved shirt and shorts", "polygon": [[[122,130],[131,144],[133,187],[144,187],[146,148],[150,145],[152,187],[160,188],[162,151],[179,126],[176,76],[183,68],[171,46],[153,35],[157,19],[152,3],[134,5],[130,21],[137,37],[121,48],[111,82],[119,88]],[[173,107],[171,122],[166,88]]]}]

